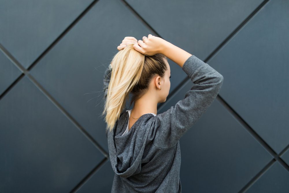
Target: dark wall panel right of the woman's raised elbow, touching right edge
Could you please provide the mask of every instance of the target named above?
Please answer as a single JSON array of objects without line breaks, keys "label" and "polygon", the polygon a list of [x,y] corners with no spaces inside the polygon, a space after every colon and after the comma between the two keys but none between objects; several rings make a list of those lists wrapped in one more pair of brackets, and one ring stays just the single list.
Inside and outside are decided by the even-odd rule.
[{"label": "dark wall panel right of the woman's raised elbow, touching right edge", "polygon": [[289,144],[289,1],[269,1],[209,64],[221,97],[279,154]]}]

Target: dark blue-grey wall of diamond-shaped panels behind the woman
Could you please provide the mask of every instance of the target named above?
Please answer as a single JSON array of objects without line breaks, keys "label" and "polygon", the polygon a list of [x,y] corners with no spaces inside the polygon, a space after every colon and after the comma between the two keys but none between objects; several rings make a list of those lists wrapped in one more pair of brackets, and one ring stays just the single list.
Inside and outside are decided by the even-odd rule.
[{"label": "dark blue-grey wall of diamond-shaped panels behind the woman", "polygon": [[[180,139],[183,192],[289,192],[289,1],[0,1],[0,192],[110,192],[103,72],[153,34],[224,77]],[[169,60],[162,113],[191,87]]]}]

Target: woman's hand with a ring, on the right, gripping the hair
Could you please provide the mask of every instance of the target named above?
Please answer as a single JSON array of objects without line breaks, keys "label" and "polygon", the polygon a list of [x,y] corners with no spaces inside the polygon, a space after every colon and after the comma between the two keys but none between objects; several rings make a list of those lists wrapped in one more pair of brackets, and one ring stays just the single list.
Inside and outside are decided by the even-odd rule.
[{"label": "woman's hand with a ring, on the right, gripping the hair", "polygon": [[166,41],[160,37],[155,37],[151,34],[139,40],[137,44],[134,44],[134,49],[144,55],[153,56],[155,54],[162,54]]}]

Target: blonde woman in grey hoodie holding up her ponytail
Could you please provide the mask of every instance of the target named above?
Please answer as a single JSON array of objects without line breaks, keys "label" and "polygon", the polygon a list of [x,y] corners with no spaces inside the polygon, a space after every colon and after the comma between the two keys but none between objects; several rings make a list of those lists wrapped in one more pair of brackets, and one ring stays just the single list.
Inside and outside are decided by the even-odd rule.
[{"label": "blonde woman in grey hoodie holding up her ponytail", "polygon": [[[111,192],[181,192],[179,139],[216,98],[223,76],[196,56],[151,34],[125,37],[104,74],[109,157],[115,172]],[[193,86],[164,113],[173,60]],[[181,79],[184,79],[182,77]],[[125,106],[129,93],[134,107]]]}]

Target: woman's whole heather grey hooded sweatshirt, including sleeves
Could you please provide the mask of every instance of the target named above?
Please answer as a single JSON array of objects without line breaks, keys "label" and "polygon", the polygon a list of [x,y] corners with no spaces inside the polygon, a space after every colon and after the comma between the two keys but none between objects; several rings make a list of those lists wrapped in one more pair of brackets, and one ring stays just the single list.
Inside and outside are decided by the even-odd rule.
[{"label": "woman's whole heather grey hooded sweatshirt, including sleeves", "polygon": [[[106,133],[115,173],[111,192],[181,192],[179,139],[205,113],[223,84],[223,76],[194,55],[182,69],[194,83],[184,99],[164,113],[142,115],[126,133],[129,111],[125,107],[113,131]],[[110,75],[108,68],[105,96]]]}]

